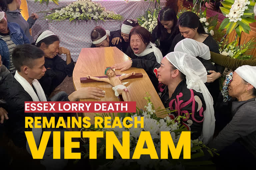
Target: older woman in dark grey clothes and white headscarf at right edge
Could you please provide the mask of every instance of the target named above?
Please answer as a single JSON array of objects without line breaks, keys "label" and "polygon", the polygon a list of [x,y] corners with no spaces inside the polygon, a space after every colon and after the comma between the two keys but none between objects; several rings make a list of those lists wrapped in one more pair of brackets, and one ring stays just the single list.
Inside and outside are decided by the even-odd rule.
[{"label": "older woman in dark grey clothes and white headscarf at right edge", "polygon": [[[229,118],[209,146],[220,151],[219,161],[246,165],[256,158],[256,66],[243,65],[233,73],[228,86],[229,96],[235,98],[219,108],[216,114]],[[216,126],[218,126],[216,120]]]}]

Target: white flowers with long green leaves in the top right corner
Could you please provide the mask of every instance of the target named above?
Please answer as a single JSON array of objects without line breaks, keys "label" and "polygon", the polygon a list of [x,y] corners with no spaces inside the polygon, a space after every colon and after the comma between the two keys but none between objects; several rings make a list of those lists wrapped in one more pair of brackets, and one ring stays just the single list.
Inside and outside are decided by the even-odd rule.
[{"label": "white flowers with long green leaves in the top right corner", "polygon": [[219,29],[226,29],[227,34],[235,29],[239,37],[242,31],[249,34],[249,24],[256,21],[253,11],[255,0],[225,0],[221,4],[223,7],[220,10],[227,18],[222,21]]}]

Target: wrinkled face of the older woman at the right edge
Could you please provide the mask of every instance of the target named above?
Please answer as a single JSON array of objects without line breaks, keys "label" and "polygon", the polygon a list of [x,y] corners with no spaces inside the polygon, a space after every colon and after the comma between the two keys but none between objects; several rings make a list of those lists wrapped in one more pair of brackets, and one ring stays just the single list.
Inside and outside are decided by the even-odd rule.
[{"label": "wrinkled face of the older woman at the right edge", "polygon": [[246,90],[246,83],[244,80],[236,73],[233,73],[233,79],[228,85],[228,95],[234,98],[238,98]]}]

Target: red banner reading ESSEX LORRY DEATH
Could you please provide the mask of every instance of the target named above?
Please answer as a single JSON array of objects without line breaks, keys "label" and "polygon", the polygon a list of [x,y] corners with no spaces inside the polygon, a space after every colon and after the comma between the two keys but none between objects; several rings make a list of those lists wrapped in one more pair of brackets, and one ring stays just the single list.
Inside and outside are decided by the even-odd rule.
[{"label": "red banner reading ESSEX LORRY DEATH", "polygon": [[126,113],[136,102],[25,102],[25,113]]}]

